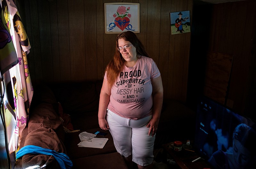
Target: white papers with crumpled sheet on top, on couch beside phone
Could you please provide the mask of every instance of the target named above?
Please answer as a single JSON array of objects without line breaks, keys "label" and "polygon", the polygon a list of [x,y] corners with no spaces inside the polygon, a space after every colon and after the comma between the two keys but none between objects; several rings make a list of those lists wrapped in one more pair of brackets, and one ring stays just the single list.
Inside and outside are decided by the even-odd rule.
[{"label": "white papers with crumpled sheet on top, on couch beside phone", "polygon": [[78,147],[90,147],[103,149],[108,141],[108,138],[95,138],[96,134],[91,134],[87,132],[82,132],[79,134],[81,142],[79,142]]}]

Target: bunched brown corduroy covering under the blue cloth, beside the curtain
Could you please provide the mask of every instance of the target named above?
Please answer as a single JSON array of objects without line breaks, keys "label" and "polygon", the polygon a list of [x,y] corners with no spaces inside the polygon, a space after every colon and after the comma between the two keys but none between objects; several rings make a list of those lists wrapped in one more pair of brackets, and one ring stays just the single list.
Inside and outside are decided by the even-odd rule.
[{"label": "bunched brown corduroy covering under the blue cloth, beside the curtain", "polygon": [[[27,133],[24,133],[20,150],[25,146],[38,146],[58,153],[65,153],[64,130],[54,106],[49,103],[39,103],[29,113]],[[61,139],[62,138],[62,139]],[[20,150],[17,153],[20,153]],[[19,154],[18,154],[19,155]],[[19,157],[19,156],[18,156]],[[15,169],[40,168],[60,169],[59,161],[52,154],[28,153],[17,158]]]}]

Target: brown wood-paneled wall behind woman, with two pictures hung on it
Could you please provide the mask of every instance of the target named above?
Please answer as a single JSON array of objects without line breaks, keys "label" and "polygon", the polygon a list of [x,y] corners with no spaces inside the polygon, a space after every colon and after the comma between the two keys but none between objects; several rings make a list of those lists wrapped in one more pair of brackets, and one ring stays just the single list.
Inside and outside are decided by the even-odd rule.
[{"label": "brown wood-paneled wall behind woman, with two pictures hung on it", "polygon": [[102,79],[116,40],[116,34],[105,34],[104,3],[140,3],[137,36],[160,69],[164,97],[186,101],[190,33],[171,35],[170,12],[192,15],[192,0],[18,2],[32,46],[28,65],[34,85]]}]

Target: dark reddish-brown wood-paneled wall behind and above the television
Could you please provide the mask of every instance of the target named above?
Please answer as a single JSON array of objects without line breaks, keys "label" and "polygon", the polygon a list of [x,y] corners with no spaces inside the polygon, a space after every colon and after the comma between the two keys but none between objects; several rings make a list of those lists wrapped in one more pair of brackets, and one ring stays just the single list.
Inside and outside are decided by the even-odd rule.
[{"label": "dark reddish-brown wood-paneled wall behind and above the television", "polygon": [[[254,52],[252,50],[256,45],[255,9],[256,1],[214,5],[208,48],[213,51],[233,54],[227,106],[250,117],[254,114],[255,109],[249,110],[247,106],[256,103],[255,48]],[[254,102],[252,102],[253,93]],[[255,118],[255,115],[253,117]]]}]

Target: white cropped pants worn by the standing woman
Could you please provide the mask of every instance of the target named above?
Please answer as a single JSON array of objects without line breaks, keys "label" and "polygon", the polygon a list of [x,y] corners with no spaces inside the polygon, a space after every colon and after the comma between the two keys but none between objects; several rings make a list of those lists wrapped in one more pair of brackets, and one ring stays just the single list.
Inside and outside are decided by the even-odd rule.
[{"label": "white cropped pants worn by the standing woman", "polygon": [[132,161],[141,165],[149,165],[153,162],[153,149],[155,135],[148,135],[146,127],[151,116],[143,119],[132,120],[123,118],[107,109],[107,121],[109,131],[113,137],[118,153],[124,157],[132,154]]}]

